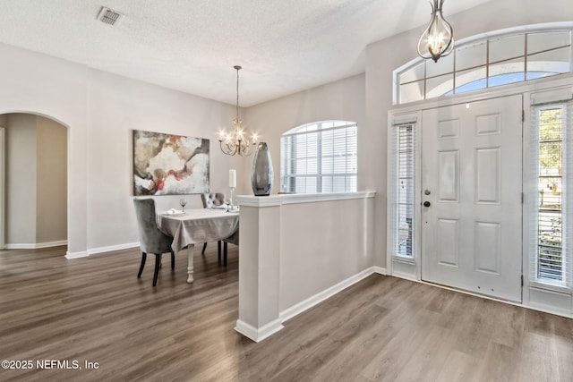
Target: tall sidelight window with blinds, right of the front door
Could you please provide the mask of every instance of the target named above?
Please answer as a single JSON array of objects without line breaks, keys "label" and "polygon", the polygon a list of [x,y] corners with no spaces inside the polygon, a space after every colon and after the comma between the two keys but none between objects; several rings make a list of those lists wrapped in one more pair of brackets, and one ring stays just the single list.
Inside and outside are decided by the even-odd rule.
[{"label": "tall sidelight window with blinds, right of the front door", "polygon": [[571,285],[573,233],[573,102],[532,106],[532,170],[537,190],[530,237],[530,278],[534,283]]}]

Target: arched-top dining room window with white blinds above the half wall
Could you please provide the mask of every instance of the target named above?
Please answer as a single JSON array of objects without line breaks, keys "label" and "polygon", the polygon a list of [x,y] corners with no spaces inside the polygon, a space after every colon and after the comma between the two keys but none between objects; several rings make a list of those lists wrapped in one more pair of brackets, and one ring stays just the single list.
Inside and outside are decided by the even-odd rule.
[{"label": "arched-top dining room window with white blinds above the half wall", "polygon": [[280,191],[356,191],[354,122],[323,121],[295,127],[280,138]]}]

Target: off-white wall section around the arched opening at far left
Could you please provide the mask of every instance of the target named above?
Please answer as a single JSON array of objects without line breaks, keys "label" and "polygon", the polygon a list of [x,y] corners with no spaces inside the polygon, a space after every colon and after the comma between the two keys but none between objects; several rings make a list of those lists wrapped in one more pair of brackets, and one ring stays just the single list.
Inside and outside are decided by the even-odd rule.
[{"label": "off-white wall section around the arched opening at far left", "polygon": [[67,127],[70,251],[87,249],[86,106],[88,69],[6,45],[0,46],[0,114],[33,112]]}]

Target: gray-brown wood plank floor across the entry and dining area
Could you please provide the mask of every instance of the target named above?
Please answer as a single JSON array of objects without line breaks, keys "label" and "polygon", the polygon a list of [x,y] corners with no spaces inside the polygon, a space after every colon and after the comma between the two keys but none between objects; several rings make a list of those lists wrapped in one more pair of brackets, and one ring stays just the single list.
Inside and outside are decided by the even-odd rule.
[{"label": "gray-brown wood plank floor across the entry and dining area", "polygon": [[[0,251],[0,359],[33,361],[0,380],[573,380],[573,320],[389,276],[255,344],[233,329],[236,247],[227,267],[216,249],[196,251],[194,284],[185,252],[173,272],[166,257],[155,288],[152,261],[136,278],[137,249],[70,260],[64,248]],[[38,369],[52,360],[81,369]]]}]

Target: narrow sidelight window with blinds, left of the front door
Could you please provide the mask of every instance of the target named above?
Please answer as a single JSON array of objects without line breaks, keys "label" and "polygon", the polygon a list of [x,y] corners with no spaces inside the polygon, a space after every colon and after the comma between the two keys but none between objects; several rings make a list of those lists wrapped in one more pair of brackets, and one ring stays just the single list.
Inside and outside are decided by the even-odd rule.
[{"label": "narrow sidelight window with blinds, left of the front door", "polygon": [[415,257],[415,123],[399,123],[392,128],[393,256],[412,259]]}]

